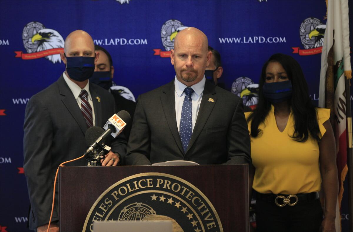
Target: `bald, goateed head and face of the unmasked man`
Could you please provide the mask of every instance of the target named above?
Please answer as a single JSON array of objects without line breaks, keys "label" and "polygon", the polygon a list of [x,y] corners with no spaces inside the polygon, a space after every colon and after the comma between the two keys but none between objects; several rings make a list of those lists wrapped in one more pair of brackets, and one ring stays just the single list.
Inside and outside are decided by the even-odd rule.
[{"label": "bald, goateed head and face of the unmasked man", "polygon": [[190,87],[203,79],[212,52],[208,51],[207,36],[202,31],[197,28],[181,30],[170,52],[178,81]]}]

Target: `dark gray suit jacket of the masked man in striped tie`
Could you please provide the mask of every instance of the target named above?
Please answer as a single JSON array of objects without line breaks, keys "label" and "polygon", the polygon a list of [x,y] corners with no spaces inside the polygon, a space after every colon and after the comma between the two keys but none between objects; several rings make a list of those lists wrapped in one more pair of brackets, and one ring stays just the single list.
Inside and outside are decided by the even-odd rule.
[{"label": "dark gray suit jacket of the masked man in striped tie", "polygon": [[[115,113],[114,98],[98,85],[90,83],[89,86],[96,126],[103,127]],[[100,102],[96,97],[100,98]],[[56,169],[62,162],[83,155],[88,148],[85,142],[87,129],[77,101],[63,76],[28,101],[24,120],[23,167],[31,203],[28,221],[32,230],[49,222]],[[125,156],[124,136],[119,135],[107,144],[113,151]],[[65,166],[86,166],[87,162],[83,158]],[[52,221],[59,220],[58,197],[55,203]]]}]

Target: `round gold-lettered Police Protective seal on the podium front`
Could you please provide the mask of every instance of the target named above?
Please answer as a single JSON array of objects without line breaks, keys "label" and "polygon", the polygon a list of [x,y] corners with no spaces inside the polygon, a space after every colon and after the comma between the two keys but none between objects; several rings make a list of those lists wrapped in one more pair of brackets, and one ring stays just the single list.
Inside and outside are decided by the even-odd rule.
[{"label": "round gold-lettered Police Protective seal on the podium front", "polygon": [[191,183],[164,173],[140,173],[104,191],[91,207],[83,232],[96,221],[163,221],[174,231],[223,231],[208,198]]}]

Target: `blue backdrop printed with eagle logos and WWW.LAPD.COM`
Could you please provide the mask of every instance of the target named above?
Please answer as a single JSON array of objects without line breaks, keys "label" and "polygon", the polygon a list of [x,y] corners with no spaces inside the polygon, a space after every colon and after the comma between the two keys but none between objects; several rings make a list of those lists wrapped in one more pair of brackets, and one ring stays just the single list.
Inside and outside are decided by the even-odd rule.
[{"label": "blue backdrop printed with eagle logos and WWW.LAPD.COM", "polygon": [[[349,6],[353,8],[352,1]],[[224,69],[220,82],[229,91],[240,94],[247,85],[258,83],[262,65],[280,52],[298,60],[317,105],[322,38],[309,38],[309,32],[326,23],[325,13],[324,0],[1,1],[0,231],[27,231],[24,110],[32,95],[65,70],[57,59],[62,45],[53,43],[52,48],[59,49],[43,50],[32,41],[39,30],[51,29],[64,39],[73,30],[87,31],[112,55],[114,81],[137,97],[173,79],[170,35],[182,26],[194,26],[220,52]],[[353,18],[352,11],[349,14]],[[343,231],[348,231],[348,219],[345,196]]]}]

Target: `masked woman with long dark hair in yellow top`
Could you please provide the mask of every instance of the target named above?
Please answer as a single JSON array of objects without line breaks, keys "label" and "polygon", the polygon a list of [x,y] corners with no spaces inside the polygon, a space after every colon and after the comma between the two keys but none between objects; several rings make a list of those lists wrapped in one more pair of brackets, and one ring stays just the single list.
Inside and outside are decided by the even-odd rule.
[{"label": "masked woman with long dark hair in yellow top", "polygon": [[259,103],[245,114],[257,231],[335,231],[338,178],[330,110],[312,105],[298,62],[272,55],[262,69]]}]

